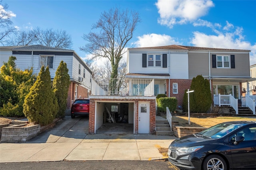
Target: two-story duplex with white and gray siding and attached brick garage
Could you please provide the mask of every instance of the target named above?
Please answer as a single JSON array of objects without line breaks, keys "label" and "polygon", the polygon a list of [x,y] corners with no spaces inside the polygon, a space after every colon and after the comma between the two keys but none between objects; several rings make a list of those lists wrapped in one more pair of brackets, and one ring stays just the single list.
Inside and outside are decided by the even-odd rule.
[{"label": "two-story duplex with white and gray siding and attached brick garage", "polygon": [[[106,84],[113,87],[110,85],[113,80],[109,80],[101,86],[104,93],[98,90],[90,96],[90,104],[93,105],[90,106],[89,132],[96,133],[104,123],[102,118],[107,112],[104,107],[123,111],[123,106],[127,105],[125,112],[128,123],[134,123],[134,133],[154,133],[155,97],[158,94],[176,97],[178,106],[182,106],[185,90],[190,88],[192,79],[198,75],[210,81],[213,104],[231,106],[238,114],[242,83],[254,80],[250,76],[249,52],[182,45],[130,48],[124,81],[126,86],[120,88],[124,91],[112,93],[112,89],[106,88]],[[125,118],[123,115],[120,117]]]}]

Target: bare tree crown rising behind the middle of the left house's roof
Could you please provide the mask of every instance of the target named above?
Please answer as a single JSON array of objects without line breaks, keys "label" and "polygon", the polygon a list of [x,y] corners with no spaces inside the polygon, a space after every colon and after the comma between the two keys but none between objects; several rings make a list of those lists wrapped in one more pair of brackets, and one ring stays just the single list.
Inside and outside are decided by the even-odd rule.
[{"label": "bare tree crown rising behind the middle of the left house's roof", "polygon": [[52,28],[43,30],[36,27],[33,34],[37,43],[41,45],[55,48],[70,48],[72,46],[71,35],[64,30],[53,30]]}]

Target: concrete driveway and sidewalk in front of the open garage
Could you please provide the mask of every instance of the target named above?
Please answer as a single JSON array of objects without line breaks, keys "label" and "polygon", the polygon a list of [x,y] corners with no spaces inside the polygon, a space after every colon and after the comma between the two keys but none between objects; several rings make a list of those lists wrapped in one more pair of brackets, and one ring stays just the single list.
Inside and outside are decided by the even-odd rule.
[{"label": "concrete driveway and sidewalk in front of the open garage", "polygon": [[[62,160],[158,160],[173,136],[134,134],[87,135],[88,119],[65,117],[27,143],[0,143],[0,162]],[[88,126],[87,126],[88,127]]]}]

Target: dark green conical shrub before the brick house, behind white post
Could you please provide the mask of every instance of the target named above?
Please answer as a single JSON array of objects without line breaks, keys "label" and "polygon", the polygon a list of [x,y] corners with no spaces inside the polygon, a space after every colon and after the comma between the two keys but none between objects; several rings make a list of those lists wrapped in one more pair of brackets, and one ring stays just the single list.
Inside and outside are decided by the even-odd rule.
[{"label": "dark green conical shrub before the brick house, behind white post", "polygon": [[206,113],[212,104],[212,94],[210,90],[210,82],[204,79],[202,75],[192,79],[190,90],[190,110],[195,113]]}]

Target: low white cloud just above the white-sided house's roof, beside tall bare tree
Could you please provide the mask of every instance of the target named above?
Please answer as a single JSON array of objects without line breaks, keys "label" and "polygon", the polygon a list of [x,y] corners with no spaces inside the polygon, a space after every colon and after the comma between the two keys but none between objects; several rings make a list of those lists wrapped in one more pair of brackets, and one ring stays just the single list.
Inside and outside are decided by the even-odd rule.
[{"label": "low white cloud just above the white-sided house's roof, beside tall bare tree", "polygon": [[169,35],[160,35],[160,34],[145,34],[138,37],[138,41],[135,43],[136,47],[157,47],[164,45],[172,45],[172,44],[181,44],[176,41],[175,38],[170,37]]}]

